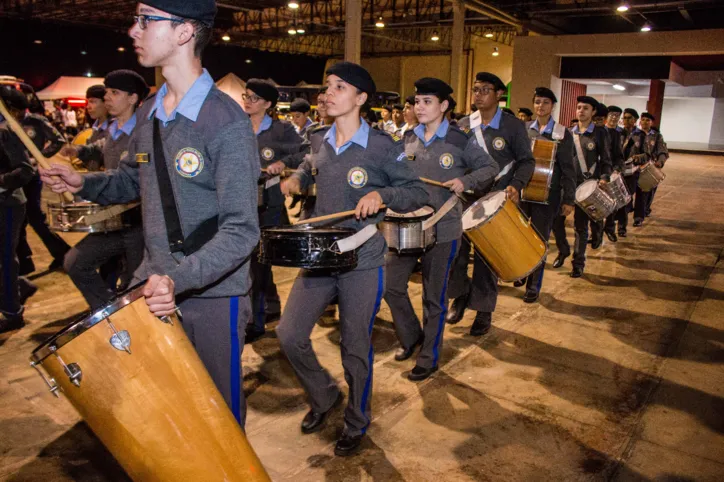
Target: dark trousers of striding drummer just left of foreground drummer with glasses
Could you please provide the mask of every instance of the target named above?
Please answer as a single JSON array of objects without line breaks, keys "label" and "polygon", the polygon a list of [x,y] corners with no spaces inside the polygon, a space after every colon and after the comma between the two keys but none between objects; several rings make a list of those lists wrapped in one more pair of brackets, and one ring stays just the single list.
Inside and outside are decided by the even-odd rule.
[{"label": "dark trousers of striding drummer just left of foreground drummer with glasses", "polygon": [[110,233],[93,233],[68,251],[63,267],[91,309],[95,310],[116,295],[98,273],[101,265],[115,256],[125,255],[126,275],[121,278],[130,279],[143,260],[143,250],[141,226]]}]

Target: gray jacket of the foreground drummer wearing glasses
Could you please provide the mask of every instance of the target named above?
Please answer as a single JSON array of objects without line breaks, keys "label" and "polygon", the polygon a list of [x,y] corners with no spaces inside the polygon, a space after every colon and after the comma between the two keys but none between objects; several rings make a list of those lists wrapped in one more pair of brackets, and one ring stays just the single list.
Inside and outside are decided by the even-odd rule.
[{"label": "gray jacket of the foreground drummer wearing glasses", "polygon": [[[141,198],[146,251],[137,279],[170,276],[176,294],[227,297],[248,293],[249,256],[259,241],[257,180],[260,166],[256,136],[247,116],[228,95],[213,87],[196,122],[183,115],[164,126],[166,166],[176,197],[184,236],[203,221],[218,216],[218,232],[190,256],[171,255],[153,154],[153,120],[148,99],[138,111],[138,124],[128,156],[118,169],[85,177],[80,192],[101,204]],[[186,161],[194,170],[189,172]]]}]

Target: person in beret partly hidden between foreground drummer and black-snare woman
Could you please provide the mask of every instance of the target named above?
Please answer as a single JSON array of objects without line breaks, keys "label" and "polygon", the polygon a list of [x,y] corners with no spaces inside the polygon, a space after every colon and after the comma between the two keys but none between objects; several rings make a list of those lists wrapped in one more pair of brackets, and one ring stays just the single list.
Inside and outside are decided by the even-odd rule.
[{"label": "person in beret partly hidden between foreground drummer and black-snare woman", "polygon": [[[268,80],[249,79],[243,95],[244,111],[249,115],[256,133],[261,166],[266,168],[260,186],[263,188],[259,206],[259,225],[285,226],[289,224],[284,196],[279,190],[279,178],[285,168],[296,168],[301,163],[299,154],[302,138],[289,122],[273,119],[269,112],[276,106],[279,90]],[[281,301],[274,284],[271,265],[260,263],[258,252],[251,257],[252,319],[246,328],[246,342],[252,343],[265,333],[265,323],[278,320]]]}]

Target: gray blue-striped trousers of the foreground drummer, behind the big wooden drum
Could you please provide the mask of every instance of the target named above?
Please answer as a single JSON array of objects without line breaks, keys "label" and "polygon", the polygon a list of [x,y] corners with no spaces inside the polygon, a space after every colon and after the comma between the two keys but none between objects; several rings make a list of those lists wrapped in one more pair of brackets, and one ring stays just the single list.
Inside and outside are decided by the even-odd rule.
[{"label": "gray blue-striped trousers of the foreground drummer, behind the big wooden drum", "polygon": [[234,418],[246,422],[241,352],[251,314],[249,296],[187,298],[179,303],[181,324]]}]

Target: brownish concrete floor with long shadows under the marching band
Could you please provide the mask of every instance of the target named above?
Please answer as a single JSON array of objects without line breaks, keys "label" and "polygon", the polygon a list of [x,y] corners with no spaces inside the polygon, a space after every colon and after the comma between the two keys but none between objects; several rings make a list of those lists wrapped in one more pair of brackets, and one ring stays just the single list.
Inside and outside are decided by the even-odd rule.
[{"label": "brownish concrete floor with long shadows under the marching band", "polygon": [[[248,437],[274,480],[724,480],[724,169],[676,154],[643,228],[589,252],[583,279],[547,271],[540,303],[501,287],[494,328],[448,326],[441,370],[415,384],[383,305],[374,331],[374,420],[365,451],[333,455],[336,412],[301,435],[307,407],[270,332],[243,353]],[[569,231],[572,238],[572,232]],[[36,264],[50,259],[35,238]],[[77,239],[75,239],[77,240]],[[549,258],[555,257],[555,248]],[[549,266],[550,267],[550,266]],[[275,273],[286,295],[295,270]],[[29,325],[0,337],[0,478],[127,480],[30,351],[85,304],[40,276]],[[410,292],[422,311],[419,279]],[[321,362],[345,387],[339,334],[317,327]]]}]

